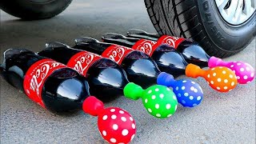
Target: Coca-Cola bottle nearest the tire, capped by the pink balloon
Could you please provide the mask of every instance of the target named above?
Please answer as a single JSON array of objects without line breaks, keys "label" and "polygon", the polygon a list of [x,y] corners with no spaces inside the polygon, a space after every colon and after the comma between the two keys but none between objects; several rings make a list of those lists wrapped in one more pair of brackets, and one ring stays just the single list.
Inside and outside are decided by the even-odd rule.
[{"label": "Coca-Cola bottle nearest the tire, capped by the pink balloon", "polygon": [[206,51],[203,50],[197,42],[191,41],[190,39],[177,38],[169,35],[160,36],[158,34],[150,34],[143,30],[134,29],[128,30],[127,35],[131,38],[144,38],[158,42],[159,44],[167,44],[175,50],[178,50],[178,52],[180,52],[186,59],[186,62],[193,63],[201,67],[206,67],[210,58],[210,56],[206,54]]}]

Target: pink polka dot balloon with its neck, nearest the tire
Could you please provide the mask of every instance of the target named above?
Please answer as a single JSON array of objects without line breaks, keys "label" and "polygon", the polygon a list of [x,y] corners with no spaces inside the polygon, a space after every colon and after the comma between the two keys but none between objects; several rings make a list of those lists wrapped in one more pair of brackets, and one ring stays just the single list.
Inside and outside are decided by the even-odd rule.
[{"label": "pink polka dot balloon with its neck, nearest the tire", "polygon": [[252,66],[246,62],[224,62],[221,58],[211,57],[208,62],[210,68],[216,66],[225,66],[234,71],[234,74],[238,78],[238,83],[246,84],[254,80],[255,71]]}]

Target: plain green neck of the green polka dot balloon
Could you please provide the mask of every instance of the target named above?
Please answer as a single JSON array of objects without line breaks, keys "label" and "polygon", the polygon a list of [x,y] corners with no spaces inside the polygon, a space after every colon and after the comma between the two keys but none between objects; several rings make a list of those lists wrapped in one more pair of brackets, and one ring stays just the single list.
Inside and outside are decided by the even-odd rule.
[{"label": "plain green neck of the green polka dot balloon", "polygon": [[138,100],[138,98],[142,97],[143,89],[141,86],[130,82],[125,86],[123,92],[126,98]]}]

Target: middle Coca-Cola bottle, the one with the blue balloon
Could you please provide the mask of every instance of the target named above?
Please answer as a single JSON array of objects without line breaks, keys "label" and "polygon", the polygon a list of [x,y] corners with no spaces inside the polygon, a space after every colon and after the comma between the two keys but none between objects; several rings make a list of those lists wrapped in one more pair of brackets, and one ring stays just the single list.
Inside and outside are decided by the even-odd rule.
[{"label": "middle Coca-Cola bottle, the one with the blue balloon", "polygon": [[75,42],[74,49],[88,50],[117,62],[126,71],[130,82],[139,84],[142,87],[153,85],[160,73],[155,62],[140,51],[131,50],[125,46],[98,42],[94,38],[77,38]]}]

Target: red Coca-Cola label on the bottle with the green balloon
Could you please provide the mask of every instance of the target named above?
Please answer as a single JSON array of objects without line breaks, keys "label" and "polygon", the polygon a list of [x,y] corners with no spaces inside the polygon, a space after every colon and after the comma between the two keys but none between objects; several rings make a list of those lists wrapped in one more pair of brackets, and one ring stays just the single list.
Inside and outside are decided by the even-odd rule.
[{"label": "red Coca-Cola label on the bottle with the green balloon", "polygon": [[74,54],[74,56],[70,58],[70,61],[67,63],[67,66],[77,70],[79,74],[86,76],[90,66],[100,58],[101,57],[98,54],[82,51],[78,54]]}]

